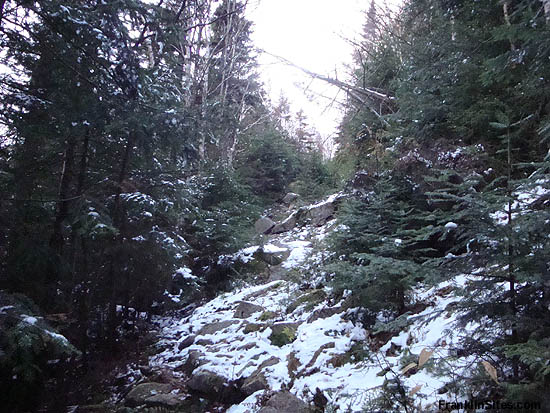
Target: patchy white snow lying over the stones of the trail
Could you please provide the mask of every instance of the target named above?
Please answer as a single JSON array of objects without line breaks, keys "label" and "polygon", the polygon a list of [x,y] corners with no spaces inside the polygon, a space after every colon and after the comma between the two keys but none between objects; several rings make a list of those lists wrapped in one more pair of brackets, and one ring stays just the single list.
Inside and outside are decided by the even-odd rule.
[{"label": "patchy white snow lying over the stones of the trail", "polygon": [[[307,278],[312,262],[321,259],[322,250],[314,246],[322,245],[327,232],[333,229],[334,221],[319,228],[294,229],[271,237],[263,250],[286,252],[288,258],[281,266],[298,270]],[[258,248],[246,248],[233,258],[248,262]],[[326,299],[299,301],[319,290],[302,291],[298,281],[284,279],[245,286],[213,299],[186,318],[158,319],[164,337],[160,345],[165,350],[154,356],[150,364],[177,372],[191,352],[200,352],[201,365],[193,374],[208,371],[234,381],[258,373],[257,369],[267,362],[261,372],[269,389],[289,389],[305,401],[311,401],[319,389],[339,412],[361,411],[392,381],[400,383],[415,404],[421,404],[422,411],[436,410],[439,400],[460,398],[457,394],[440,394],[444,385],[453,377],[468,374],[477,364],[470,357],[458,358],[454,354],[459,334],[453,330],[455,315],[447,311],[459,300],[455,289],[467,282],[468,278],[461,276],[436,287],[418,289],[416,299],[426,305],[425,309],[405,316],[405,327],[381,347],[372,346],[372,334],[360,322],[350,321],[357,319],[354,314],[358,309],[346,308],[343,303],[329,305]],[[326,287],[325,292],[330,293]],[[261,309],[238,318],[235,310],[242,302]],[[289,307],[293,302],[299,305]],[[280,323],[295,323],[291,325],[295,330],[289,330],[295,339],[279,347],[270,337],[274,326]],[[462,333],[469,334],[474,328]],[[196,336],[193,344],[183,345],[189,336]],[[361,359],[352,351],[358,347],[366,349]],[[408,369],[404,369],[406,366]],[[436,374],[442,369],[446,375]],[[262,393],[263,390],[253,393],[228,411],[254,412],[252,406]]]}]

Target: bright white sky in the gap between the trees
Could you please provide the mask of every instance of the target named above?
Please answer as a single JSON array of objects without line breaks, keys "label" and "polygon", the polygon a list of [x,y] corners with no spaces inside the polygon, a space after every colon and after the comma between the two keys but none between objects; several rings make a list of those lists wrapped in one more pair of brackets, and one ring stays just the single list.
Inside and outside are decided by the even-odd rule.
[{"label": "bright white sky in the gap between the trees", "polygon": [[[357,39],[370,0],[251,0],[248,18],[254,22],[254,44],[313,72],[347,78],[353,47],[345,39]],[[335,132],[341,117],[338,104],[328,107],[343,92],[301,71],[279,63],[269,55],[259,58],[260,72],[273,102],[281,91],[293,111],[303,109],[323,138]],[[309,85],[308,92],[304,88]],[[324,95],[322,98],[317,95]],[[315,95],[308,100],[308,95]]]}]

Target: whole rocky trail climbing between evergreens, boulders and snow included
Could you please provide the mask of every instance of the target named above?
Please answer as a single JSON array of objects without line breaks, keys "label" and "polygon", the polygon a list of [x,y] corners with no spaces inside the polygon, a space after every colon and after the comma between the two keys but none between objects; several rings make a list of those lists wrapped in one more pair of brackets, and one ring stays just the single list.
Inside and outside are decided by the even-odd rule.
[{"label": "whole rocky trail climbing between evergreens, boulders and snow included", "polygon": [[[156,354],[129,367],[129,391],[113,401],[128,411],[356,412],[397,386],[431,411],[473,362],[447,361],[457,336],[446,308],[467,279],[418,290],[421,305],[402,316],[399,331],[367,331],[346,295],[334,300],[329,274],[313,271],[325,258],[325,237],[339,230],[339,200],[295,209],[279,223],[260,219],[263,244],[220,260],[261,273],[197,308],[154,319]],[[446,380],[433,374],[443,368],[452,372]]]}]

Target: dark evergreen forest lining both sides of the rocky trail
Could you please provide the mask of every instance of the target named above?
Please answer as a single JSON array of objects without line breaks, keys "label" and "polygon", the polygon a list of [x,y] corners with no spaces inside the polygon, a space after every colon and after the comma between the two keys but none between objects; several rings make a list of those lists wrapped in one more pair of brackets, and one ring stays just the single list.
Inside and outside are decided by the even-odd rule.
[{"label": "dark evergreen forest lining both sides of the rocky trail", "polygon": [[[414,362],[403,349],[401,375],[387,364],[359,410],[336,407],[319,383],[306,410],[262,407],[255,389],[257,409],[232,411],[443,411],[422,407],[429,395],[400,378],[424,364],[452,378],[438,391],[448,401],[548,411],[550,1],[407,0],[391,11],[366,1],[349,78],[309,72],[346,92],[331,159],[301,111],[270,102],[247,6],[0,1],[2,409],[153,411],[111,396],[131,384],[114,372],[155,353],[155,320],[190,317],[220,294],[276,279],[282,265],[297,289],[281,314],[313,299],[324,306],[316,311],[344,303],[343,319],[366,332],[333,366],[384,365],[379,349],[434,305],[430,288],[433,300],[450,289],[458,297],[425,319],[454,320],[438,341],[454,359],[426,364],[434,347]],[[321,219],[312,211],[331,194],[335,210]],[[280,247],[265,247],[270,234],[328,218],[332,229],[312,246],[318,260],[266,259]],[[293,245],[306,242],[296,236]],[[258,262],[231,258],[253,244]],[[301,331],[285,325],[275,345],[292,346]],[[289,355],[280,389],[295,394],[334,342],[312,348],[302,370]],[[472,362],[458,374],[452,362],[464,356]],[[231,385],[228,396],[211,383],[211,404],[150,406],[225,411],[252,394]]]}]

